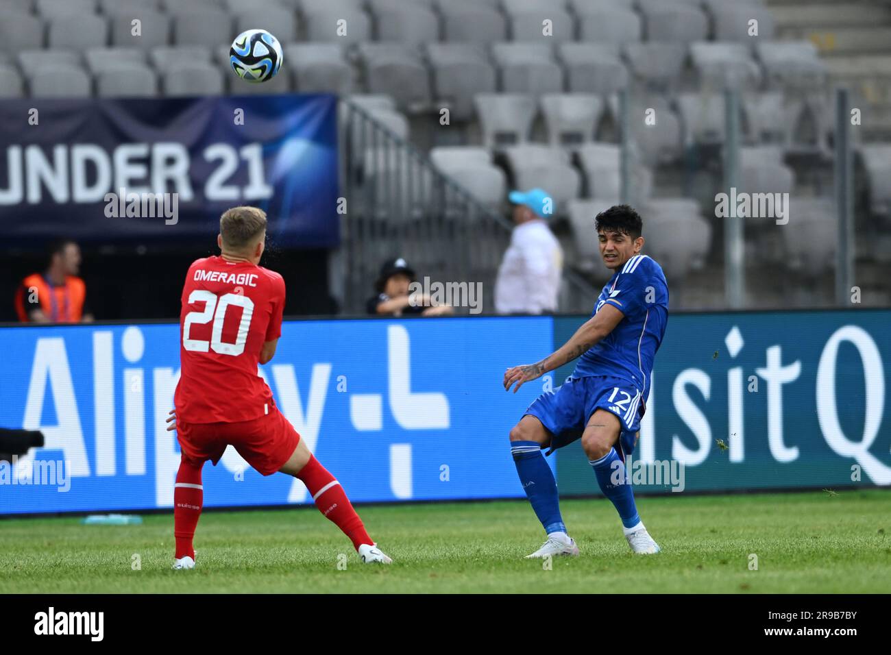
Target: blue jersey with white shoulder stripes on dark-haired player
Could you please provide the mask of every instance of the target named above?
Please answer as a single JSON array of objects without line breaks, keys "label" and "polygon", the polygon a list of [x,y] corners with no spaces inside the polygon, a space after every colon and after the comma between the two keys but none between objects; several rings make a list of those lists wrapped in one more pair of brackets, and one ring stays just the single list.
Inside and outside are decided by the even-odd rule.
[{"label": "blue jersey with white shoulder stripes on dark-haired player", "polygon": [[646,398],[653,360],[668,323],[668,284],[662,266],[646,255],[634,255],[603,287],[593,314],[605,303],[617,307],[625,318],[579,358],[571,377],[621,378]]}]

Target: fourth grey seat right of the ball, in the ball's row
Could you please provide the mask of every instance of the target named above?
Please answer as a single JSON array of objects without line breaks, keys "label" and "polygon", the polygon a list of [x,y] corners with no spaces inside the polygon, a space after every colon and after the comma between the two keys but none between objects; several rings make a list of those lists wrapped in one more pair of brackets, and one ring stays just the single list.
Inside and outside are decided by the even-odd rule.
[{"label": "fourth grey seat right of the ball, in the ball's row", "polygon": [[563,70],[553,60],[549,45],[496,43],[492,56],[498,65],[500,90],[505,94],[554,94],[563,91]]}]

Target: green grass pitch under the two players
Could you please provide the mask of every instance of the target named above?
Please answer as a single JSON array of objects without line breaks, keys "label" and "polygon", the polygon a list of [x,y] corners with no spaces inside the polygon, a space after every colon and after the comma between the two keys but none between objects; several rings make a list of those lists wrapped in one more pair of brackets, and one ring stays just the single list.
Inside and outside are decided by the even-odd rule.
[{"label": "green grass pitch under the two players", "polygon": [[609,502],[564,500],[582,553],[550,570],[523,559],[544,540],[523,501],[360,507],[391,567],[361,564],[312,507],[205,512],[192,571],[170,570],[171,514],[121,527],[0,520],[0,594],[879,593],[891,588],[889,501],[881,489],[644,497],[663,552],[635,556]]}]

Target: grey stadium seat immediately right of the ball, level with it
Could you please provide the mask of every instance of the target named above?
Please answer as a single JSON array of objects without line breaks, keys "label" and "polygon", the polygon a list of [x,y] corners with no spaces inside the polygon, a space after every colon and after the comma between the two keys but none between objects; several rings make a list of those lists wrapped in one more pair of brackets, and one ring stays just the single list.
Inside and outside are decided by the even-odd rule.
[{"label": "grey stadium seat immediately right of the ball, level with it", "polygon": [[347,95],[356,90],[353,68],[344,58],[339,44],[287,45],[284,59],[299,93]]}]

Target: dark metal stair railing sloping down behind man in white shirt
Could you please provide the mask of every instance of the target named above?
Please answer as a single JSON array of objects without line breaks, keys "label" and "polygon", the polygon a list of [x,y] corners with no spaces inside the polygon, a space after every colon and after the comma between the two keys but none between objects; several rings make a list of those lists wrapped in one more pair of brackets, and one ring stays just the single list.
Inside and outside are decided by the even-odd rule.
[{"label": "dark metal stair railing sloping down behind man in white shirt", "polygon": [[[341,100],[339,269],[346,314],[364,313],[388,258],[405,258],[419,282],[482,283],[483,313],[495,312],[495,277],[511,221],[439,171],[426,154],[354,102]],[[598,291],[564,269],[560,312],[590,312]],[[456,307],[467,313],[468,307]]]}]

